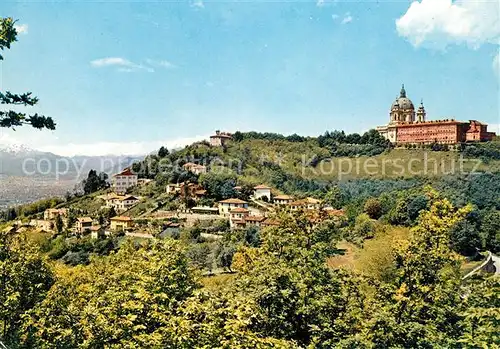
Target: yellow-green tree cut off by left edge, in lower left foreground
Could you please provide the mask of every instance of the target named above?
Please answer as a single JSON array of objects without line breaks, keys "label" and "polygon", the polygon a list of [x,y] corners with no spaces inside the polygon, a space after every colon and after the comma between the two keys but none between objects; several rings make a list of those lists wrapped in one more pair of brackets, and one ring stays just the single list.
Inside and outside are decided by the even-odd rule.
[{"label": "yellow-green tree cut off by left edge, in lower left foreground", "polygon": [[22,236],[0,234],[0,341],[18,344],[22,318],[39,304],[54,275],[38,248]]}]

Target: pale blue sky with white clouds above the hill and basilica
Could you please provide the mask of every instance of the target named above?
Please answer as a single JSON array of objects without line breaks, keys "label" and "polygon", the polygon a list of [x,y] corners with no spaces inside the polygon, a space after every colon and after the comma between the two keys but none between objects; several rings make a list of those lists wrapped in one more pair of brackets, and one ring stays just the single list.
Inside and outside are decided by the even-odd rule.
[{"label": "pale blue sky with white clouds above the hill and basilica", "polygon": [[215,130],[319,135],[386,124],[405,84],[428,119],[499,132],[498,1],[2,1],[18,42],[0,90],[55,131],[0,145],[144,154]]}]

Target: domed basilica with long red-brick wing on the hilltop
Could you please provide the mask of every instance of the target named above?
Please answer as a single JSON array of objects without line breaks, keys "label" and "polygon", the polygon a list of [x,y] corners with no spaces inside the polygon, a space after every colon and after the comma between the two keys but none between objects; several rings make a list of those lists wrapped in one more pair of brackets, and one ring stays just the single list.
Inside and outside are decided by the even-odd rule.
[{"label": "domed basilica with long red-brick wing on the hilltop", "polygon": [[488,132],[488,125],[476,120],[428,121],[426,117],[423,103],[415,110],[403,85],[399,97],[391,105],[389,124],[377,127],[377,131],[394,144],[484,142],[495,136],[494,132]]}]

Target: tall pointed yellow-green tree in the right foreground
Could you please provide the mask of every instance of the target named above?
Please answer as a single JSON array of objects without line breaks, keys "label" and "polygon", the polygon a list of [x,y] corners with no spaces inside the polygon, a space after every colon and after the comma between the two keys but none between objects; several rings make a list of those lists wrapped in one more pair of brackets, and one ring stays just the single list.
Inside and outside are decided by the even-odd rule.
[{"label": "tall pointed yellow-green tree in the right foreground", "polygon": [[435,192],[408,243],[394,253],[395,279],[381,285],[368,339],[376,347],[454,347],[460,335],[460,260],[449,248],[450,230],[470,212]]}]

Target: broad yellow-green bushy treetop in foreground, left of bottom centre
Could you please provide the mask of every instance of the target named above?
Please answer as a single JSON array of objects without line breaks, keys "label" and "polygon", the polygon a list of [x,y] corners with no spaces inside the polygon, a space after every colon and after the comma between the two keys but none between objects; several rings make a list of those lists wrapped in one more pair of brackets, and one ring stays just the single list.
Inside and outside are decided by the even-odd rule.
[{"label": "broad yellow-green bushy treetop in foreground, left of bottom centre", "polygon": [[60,277],[26,320],[30,348],[171,348],[176,309],[198,287],[178,242],[132,242]]}]

